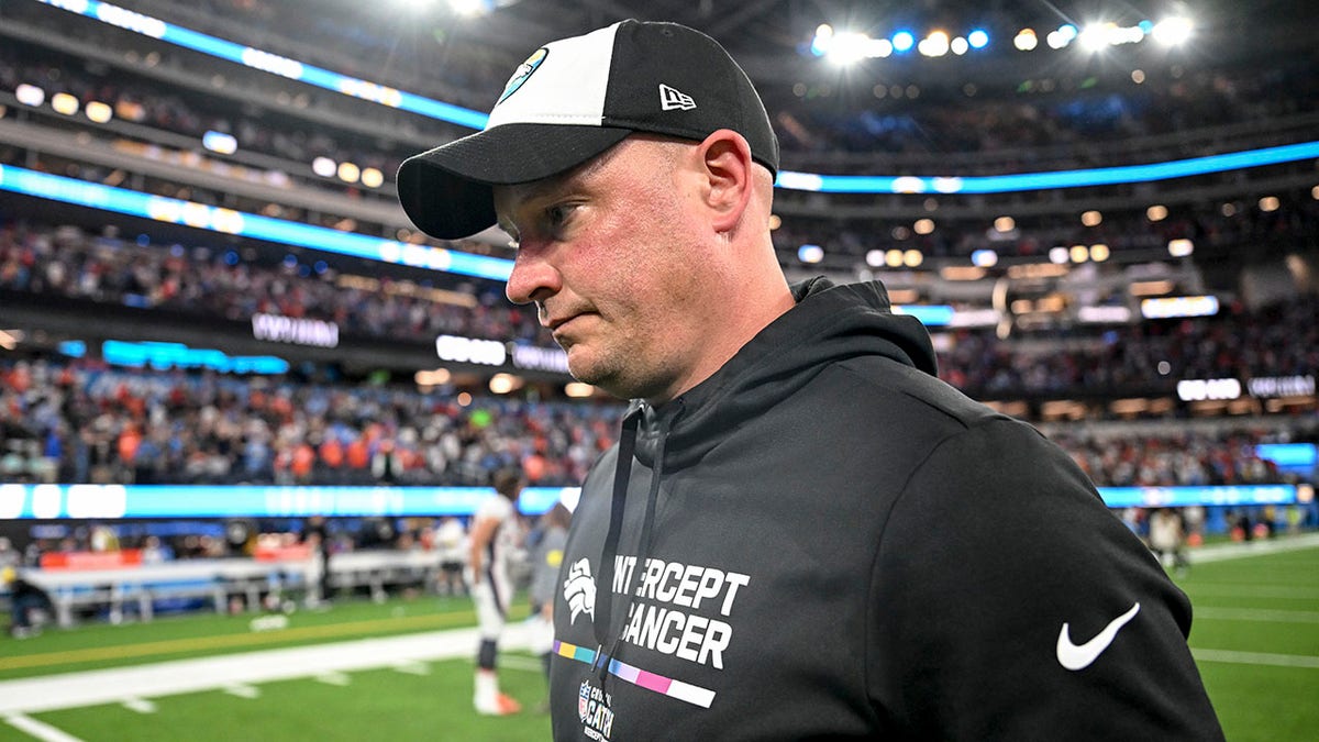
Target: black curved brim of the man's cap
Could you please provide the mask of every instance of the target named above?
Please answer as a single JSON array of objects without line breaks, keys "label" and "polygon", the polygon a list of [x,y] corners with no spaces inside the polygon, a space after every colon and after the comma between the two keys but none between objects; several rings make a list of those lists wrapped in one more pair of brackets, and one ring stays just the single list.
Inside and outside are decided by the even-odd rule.
[{"label": "black curved brim of the man's cap", "polygon": [[404,160],[398,201],[421,231],[474,235],[496,222],[492,186],[565,173],[623,141],[632,129],[504,124]]}]

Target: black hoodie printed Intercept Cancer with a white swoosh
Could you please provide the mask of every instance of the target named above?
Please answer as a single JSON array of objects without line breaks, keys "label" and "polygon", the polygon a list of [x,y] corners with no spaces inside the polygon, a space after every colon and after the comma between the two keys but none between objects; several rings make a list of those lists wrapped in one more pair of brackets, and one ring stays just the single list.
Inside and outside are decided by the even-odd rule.
[{"label": "black hoodie printed Intercept Cancer with a white swoosh", "polygon": [[1186,597],[1072,461],[881,284],[794,294],[587,477],[555,739],[1220,739]]}]

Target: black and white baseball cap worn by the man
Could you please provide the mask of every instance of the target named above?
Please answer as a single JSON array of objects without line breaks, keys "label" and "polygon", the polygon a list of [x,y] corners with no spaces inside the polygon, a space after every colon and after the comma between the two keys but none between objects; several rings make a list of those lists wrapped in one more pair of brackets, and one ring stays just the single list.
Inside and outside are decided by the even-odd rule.
[{"label": "black and white baseball cap worn by the man", "polygon": [[441,239],[496,222],[491,186],[565,173],[633,132],[704,140],[732,129],[778,172],[778,140],[747,73],[708,36],[670,22],[620,21],[553,41],[522,62],[485,129],[409,157],[398,199]]}]

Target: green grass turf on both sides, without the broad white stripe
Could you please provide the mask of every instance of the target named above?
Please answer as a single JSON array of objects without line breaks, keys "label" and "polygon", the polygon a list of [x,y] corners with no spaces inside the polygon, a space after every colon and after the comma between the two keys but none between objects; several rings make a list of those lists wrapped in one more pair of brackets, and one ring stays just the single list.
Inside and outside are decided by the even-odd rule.
[{"label": "green grass turf on both sides, without the broad white stripe", "polygon": [[[1249,553],[1242,545],[1242,553]],[[1194,552],[1192,552],[1194,558]],[[1319,548],[1196,564],[1178,584],[1196,610],[1190,644],[1232,742],[1319,738]],[[525,617],[525,605],[516,618]],[[4,642],[0,679],[77,672],[166,659],[388,636],[475,623],[462,598],[340,601],[327,611],[299,610],[288,628],[255,632],[253,614],[187,615],[152,623],[86,624]],[[508,656],[508,655],[506,655]],[[1239,661],[1223,661],[1231,656]],[[1282,658],[1281,660],[1278,658]],[[518,660],[518,661],[514,661]],[[1298,667],[1281,667],[1294,661]],[[549,738],[537,713],[545,679],[528,656],[509,656],[501,685],[524,705],[513,717],[471,710],[471,660],[425,663],[346,675],[347,685],[317,679],[262,683],[257,697],[224,691],[169,696],[153,710],[99,705],[30,714],[88,742],[165,739],[491,739]],[[0,724],[0,741],[32,738]]]}]

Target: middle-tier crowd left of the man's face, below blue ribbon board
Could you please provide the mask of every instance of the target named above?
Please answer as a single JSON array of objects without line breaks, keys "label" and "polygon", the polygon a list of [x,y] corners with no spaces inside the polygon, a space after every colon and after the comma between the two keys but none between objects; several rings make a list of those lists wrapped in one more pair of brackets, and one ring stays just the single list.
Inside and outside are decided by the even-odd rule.
[{"label": "middle-tier crowd left of the man's face, below blue ribbon board", "polygon": [[347,285],[338,280],[339,271],[321,268],[282,257],[249,261],[227,248],[92,236],[73,227],[0,226],[0,290],[240,321],[256,313],[307,317],[332,321],[344,333],[390,339],[434,342],[437,334],[458,333],[553,342],[536,313],[509,304],[492,281],[450,279],[445,302],[427,298],[426,289],[434,288],[429,280],[377,275]]}]

